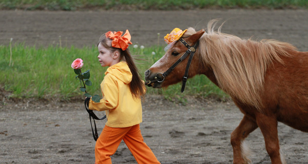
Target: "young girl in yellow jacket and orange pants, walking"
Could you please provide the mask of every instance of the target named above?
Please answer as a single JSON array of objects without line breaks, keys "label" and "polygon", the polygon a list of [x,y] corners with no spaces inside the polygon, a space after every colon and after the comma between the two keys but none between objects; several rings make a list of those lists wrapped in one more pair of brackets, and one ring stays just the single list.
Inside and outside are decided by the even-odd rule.
[{"label": "young girl in yellow jacket and orange pants, walking", "polygon": [[[138,163],[160,163],[143,141],[139,124],[142,122],[141,97],[145,86],[130,55],[130,34],[126,30],[107,32],[98,43],[99,61],[108,66],[101,83],[103,99],[89,109],[106,111],[107,122],[95,145],[95,163],[111,163],[122,139]],[[124,60],[124,61],[121,61]]]}]

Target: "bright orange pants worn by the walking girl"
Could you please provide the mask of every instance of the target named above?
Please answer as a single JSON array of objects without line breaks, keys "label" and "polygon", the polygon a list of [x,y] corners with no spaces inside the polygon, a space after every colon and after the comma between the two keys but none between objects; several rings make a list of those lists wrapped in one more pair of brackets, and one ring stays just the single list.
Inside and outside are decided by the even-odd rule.
[{"label": "bright orange pants worn by the walking girl", "polygon": [[105,126],[95,144],[95,163],[111,163],[110,156],[117,151],[122,139],[139,164],[160,163],[143,142],[139,124],[127,128]]}]

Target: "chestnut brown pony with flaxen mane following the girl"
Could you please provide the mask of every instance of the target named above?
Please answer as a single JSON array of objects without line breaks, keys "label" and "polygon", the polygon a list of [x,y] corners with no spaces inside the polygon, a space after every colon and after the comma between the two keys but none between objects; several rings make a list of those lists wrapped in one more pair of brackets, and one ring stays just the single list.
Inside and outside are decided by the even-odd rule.
[{"label": "chestnut brown pony with flaxen mane following the girl", "polygon": [[[188,28],[181,36],[186,45],[180,40],[169,44],[165,54],[145,71],[146,84],[166,88],[179,83],[186,65],[190,65],[189,59],[179,56],[198,43],[188,66],[188,78],[206,75],[244,114],[230,136],[233,163],[252,162],[244,140],[257,128],[272,163],[285,163],[279,148],[278,121],[308,132],[308,52],[274,39],[257,41],[225,34],[221,32],[223,24],[214,30],[217,22],[218,19],[210,20],[206,31]],[[172,67],[168,75],[162,73],[177,60],[182,62]]]}]

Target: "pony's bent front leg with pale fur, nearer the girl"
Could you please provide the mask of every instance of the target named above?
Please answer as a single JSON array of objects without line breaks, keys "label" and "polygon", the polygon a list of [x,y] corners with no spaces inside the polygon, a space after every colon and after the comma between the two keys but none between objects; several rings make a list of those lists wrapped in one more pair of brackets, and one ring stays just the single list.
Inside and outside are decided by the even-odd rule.
[{"label": "pony's bent front leg with pale fur, nearer the girl", "polygon": [[253,132],[257,128],[258,125],[256,121],[244,115],[240,125],[231,133],[233,163],[251,163],[251,160],[247,157],[247,154],[249,153],[247,152],[247,148],[245,149],[244,139],[248,136],[249,133]]}]

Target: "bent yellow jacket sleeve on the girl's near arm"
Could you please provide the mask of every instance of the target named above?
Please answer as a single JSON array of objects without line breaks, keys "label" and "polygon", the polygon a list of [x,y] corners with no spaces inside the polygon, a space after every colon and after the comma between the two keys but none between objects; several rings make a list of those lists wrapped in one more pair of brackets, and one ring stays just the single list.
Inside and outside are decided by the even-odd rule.
[{"label": "bent yellow jacket sleeve on the girl's near arm", "polygon": [[117,108],[119,103],[119,89],[117,80],[114,80],[112,75],[105,76],[101,84],[101,91],[103,98],[100,100],[100,103],[95,103],[91,98],[89,101],[89,109],[106,111]]}]

